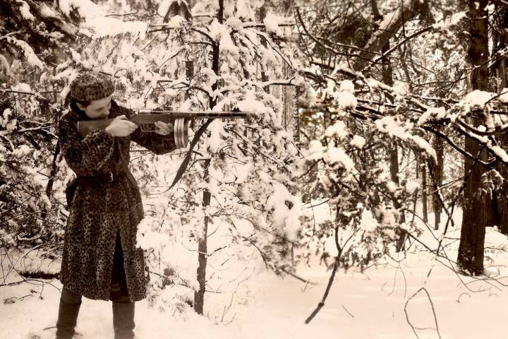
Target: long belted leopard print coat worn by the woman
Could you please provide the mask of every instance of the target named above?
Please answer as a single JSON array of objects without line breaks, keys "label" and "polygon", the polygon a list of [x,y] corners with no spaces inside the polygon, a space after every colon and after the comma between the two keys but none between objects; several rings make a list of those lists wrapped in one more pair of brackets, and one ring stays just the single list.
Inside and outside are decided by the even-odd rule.
[{"label": "long belted leopard print coat worn by the woman", "polygon": [[[122,114],[131,117],[133,113],[112,101],[109,118]],[[128,162],[131,140],[156,154],[175,148],[173,133],[160,136],[139,128],[128,137],[115,138],[99,130],[82,138],[77,122],[83,119],[87,119],[85,114],[71,109],[59,123],[63,157],[78,177],[118,172],[116,153],[121,150]],[[109,300],[115,239],[119,232],[129,297],[132,301],[145,298],[149,277],[143,249],[136,248],[137,227],[143,215],[140,191],[125,175],[114,182],[78,186],[63,242],[61,283],[87,298]]]}]

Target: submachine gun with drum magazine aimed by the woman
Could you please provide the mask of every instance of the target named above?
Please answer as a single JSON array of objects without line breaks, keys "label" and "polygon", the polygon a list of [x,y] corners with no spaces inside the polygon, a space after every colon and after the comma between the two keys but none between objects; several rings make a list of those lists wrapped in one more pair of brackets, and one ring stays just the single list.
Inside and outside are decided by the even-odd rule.
[{"label": "submachine gun with drum magazine aimed by the woman", "polygon": [[[130,121],[140,126],[143,131],[155,131],[155,121],[162,121],[166,124],[174,124],[174,139],[177,148],[186,148],[188,144],[189,123],[194,119],[244,119],[251,114],[250,112],[231,111],[231,112],[179,112],[164,111],[156,109],[138,109]],[[78,121],[78,130],[80,136],[85,137],[91,131],[105,129],[111,124],[113,119],[95,119]],[[206,127],[210,124],[207,121]],[[203,126],[205,126],[203,125]],[[205,127],[205,129],[206,129]],[[205,129],[198,130],[194,138],[200,138]]]}]

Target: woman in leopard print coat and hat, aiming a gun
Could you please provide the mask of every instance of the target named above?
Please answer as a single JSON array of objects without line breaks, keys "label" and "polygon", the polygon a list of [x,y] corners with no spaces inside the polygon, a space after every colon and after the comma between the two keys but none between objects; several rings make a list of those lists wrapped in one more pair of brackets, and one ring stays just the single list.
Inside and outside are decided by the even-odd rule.
[{"label": "woman in leopard print coat and hat, aiming a gun", "polygon": [[[173,126],[158,121],[155,133],[128,121],[132,112],[111,100],[107,76],[83,73],[70,85],[69,112],[59,124],[63,157],[75,172],[67,220],[56,338],[72,338],[81,297],[111,300],[115,338],[133,338],[134,302],[143,299],[149,276],[136,232],[143,218],[140,191],[128,170],[131,140],[154,153],[175,148]],[[84,138],[78,121],[114,119]]]}]

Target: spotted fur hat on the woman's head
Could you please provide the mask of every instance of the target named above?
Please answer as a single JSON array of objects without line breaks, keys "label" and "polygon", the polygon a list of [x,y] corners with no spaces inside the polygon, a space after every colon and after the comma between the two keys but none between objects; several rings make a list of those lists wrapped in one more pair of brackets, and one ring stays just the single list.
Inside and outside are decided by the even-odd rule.
[{"label": "spotted fur hat on the woman's head", "polygon": [[114,92],[114,83],[101,73],[81,73],[70,85],[71,97],[78,101],[92,101],[109,97]]}]

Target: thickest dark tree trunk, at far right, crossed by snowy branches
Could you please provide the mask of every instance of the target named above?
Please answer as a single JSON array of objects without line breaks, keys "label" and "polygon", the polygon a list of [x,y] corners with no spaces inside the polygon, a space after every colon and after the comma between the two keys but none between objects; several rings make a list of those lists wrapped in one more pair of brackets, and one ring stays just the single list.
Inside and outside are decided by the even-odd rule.
[{"label": "thickest dark tree trunk, at far right, crossed by snowy branches", "polygon": [[[471,19],[468,41],[468,62],[473,66],[471,73],[471,90],[488,89],[488,11],[487,0],[468,1],[468,13]],[[471,118],[474,126],[481,122],[477,117]],[[480,160],[487,159],[485,150],[466,136],[466,152]],[[466,187],[464,189],[464,214],[462,218],[461,239],[457,263],[462,270],[478,275],[483,273],[483,250],[485,244],[485,226],[490,219],[491,199],[480,189],[480,180],[485,168],[475,160],[466,157],[464,161]]]}]

